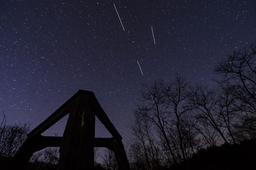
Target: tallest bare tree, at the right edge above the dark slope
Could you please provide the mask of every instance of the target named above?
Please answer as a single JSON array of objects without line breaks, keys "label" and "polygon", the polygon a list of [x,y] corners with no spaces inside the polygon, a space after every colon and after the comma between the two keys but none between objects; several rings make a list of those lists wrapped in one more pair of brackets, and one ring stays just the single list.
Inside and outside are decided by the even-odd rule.
[{"label": "tallest bare tree, at the right edge above the dark slope", "polygon": [[251,46],[249,50],[236,51],[215,68],[218,74],[223,75],[219,83],[232,89],[231,95],[236,99],[233,112],[239,116],[239,121],[233,122],[235,136],[243,136],[246,133],[250,134],[249,136],[256,136],[253,135],[253,133],[256,134],[255,54],[256,46]]}]

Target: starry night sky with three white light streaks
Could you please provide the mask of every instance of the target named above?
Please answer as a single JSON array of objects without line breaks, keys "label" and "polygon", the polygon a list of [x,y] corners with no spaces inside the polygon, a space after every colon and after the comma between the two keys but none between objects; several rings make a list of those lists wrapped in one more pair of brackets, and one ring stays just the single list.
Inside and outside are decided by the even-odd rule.
[{"label": "starry night sky with three white light streaks", "polygon": [[[33,129],[79,89],[93,91],[126,143],[141,84],[180,74],[214,86],[215,65],[255,43],[255,9],[255,0],[1,0],[0,109],[7,124]],[[66,121],[43,134],[61,136]],[[96,136],[108,137],[99,121]]]}]

